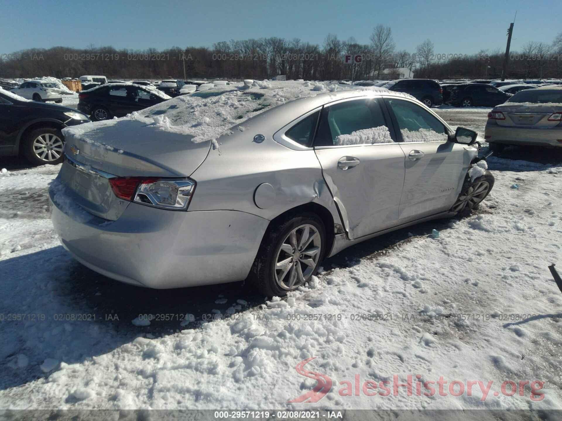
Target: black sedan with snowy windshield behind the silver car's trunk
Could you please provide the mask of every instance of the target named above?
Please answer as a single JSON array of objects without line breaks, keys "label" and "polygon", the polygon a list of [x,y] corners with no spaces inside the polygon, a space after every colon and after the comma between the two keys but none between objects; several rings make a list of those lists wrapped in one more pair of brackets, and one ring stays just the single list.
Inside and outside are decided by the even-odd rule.
[{"label": "black sedan with snowy windshield behind the silver car's trunk", "polygon": [[169,99],[156,89],[132,84],[107,84],[78,94],[78,109],[94,121],[123,117]]}]

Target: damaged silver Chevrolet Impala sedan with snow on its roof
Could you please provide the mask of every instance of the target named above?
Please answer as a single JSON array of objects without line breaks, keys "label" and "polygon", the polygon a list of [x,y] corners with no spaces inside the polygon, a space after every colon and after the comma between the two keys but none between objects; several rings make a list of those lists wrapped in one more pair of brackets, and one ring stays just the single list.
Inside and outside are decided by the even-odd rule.
[{"label": "damaged silver Chevrolet Impala sedan with snow on its roof", "polygon": [[467,175],[476,132],[384,89],[245,80],[65,137],[49,188],[62,244],[152,288],[248,279],[284,295],[324,258],[472,209],[493,186]]}]

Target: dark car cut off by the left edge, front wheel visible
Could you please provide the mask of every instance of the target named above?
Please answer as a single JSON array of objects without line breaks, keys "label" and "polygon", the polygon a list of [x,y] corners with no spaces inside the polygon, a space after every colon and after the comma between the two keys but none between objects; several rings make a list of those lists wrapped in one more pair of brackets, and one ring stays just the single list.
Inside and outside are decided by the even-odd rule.
[{"label": "dark car cut off by the left edge, front wheel visible", "polygon": [[75,109],[0,89],[0,156],[23,154],[34,164],[60,164],[65,141],[61,130],[88,121]]}]

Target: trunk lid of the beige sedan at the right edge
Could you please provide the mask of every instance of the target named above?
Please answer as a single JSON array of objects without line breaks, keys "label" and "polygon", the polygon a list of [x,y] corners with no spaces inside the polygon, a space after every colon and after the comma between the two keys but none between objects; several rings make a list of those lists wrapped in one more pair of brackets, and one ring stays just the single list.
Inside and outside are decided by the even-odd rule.
[{"label": "trunk lid of the beige sedan at the right edge", "polygon": [[506,103],[497,106],[494,111],[504,113],[505,120],[496,120],[499,126],[547,129],[560,124],[560,121],[549,121],[549,117],[562,111],[562,105]]}]

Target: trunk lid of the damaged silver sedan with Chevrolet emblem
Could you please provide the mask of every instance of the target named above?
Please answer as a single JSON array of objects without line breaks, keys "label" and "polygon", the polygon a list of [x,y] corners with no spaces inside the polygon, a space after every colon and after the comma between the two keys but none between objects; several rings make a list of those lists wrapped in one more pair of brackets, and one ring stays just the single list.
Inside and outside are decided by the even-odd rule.
[{"label": "trunk lid of the damaged silver sedan with Chevrolet emblem", "polygon": [[158,130],[135,120],[85,123],[63,131],[65,193],[98,217],[115,221],[130,202],[111,189],[112,177],[188,177],[205,160],[211,141]]}]

